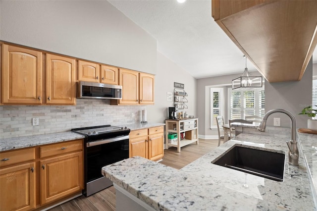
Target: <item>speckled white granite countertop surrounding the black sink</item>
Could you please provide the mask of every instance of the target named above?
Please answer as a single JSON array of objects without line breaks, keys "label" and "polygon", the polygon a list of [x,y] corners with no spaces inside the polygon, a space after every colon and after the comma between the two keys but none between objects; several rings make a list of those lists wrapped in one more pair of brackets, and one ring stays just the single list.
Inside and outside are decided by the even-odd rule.
[{"label": "speckled white granite countertop surrounding the black sink", "polygon": [[[307,166],[313,166],[311,148],[317,136],[298,133],[300,157],[296,167],[288,164],[288,132],[289,135],[241,133],[180,170],[135,157],[105,166],[102,173],[121,192],[153,210],[315,210],[314,180],[310,173],[313,169]],[[235,145],[284,151],[284,181],[211,163]],[[122,202],[117,201],[119,204]]]}]

